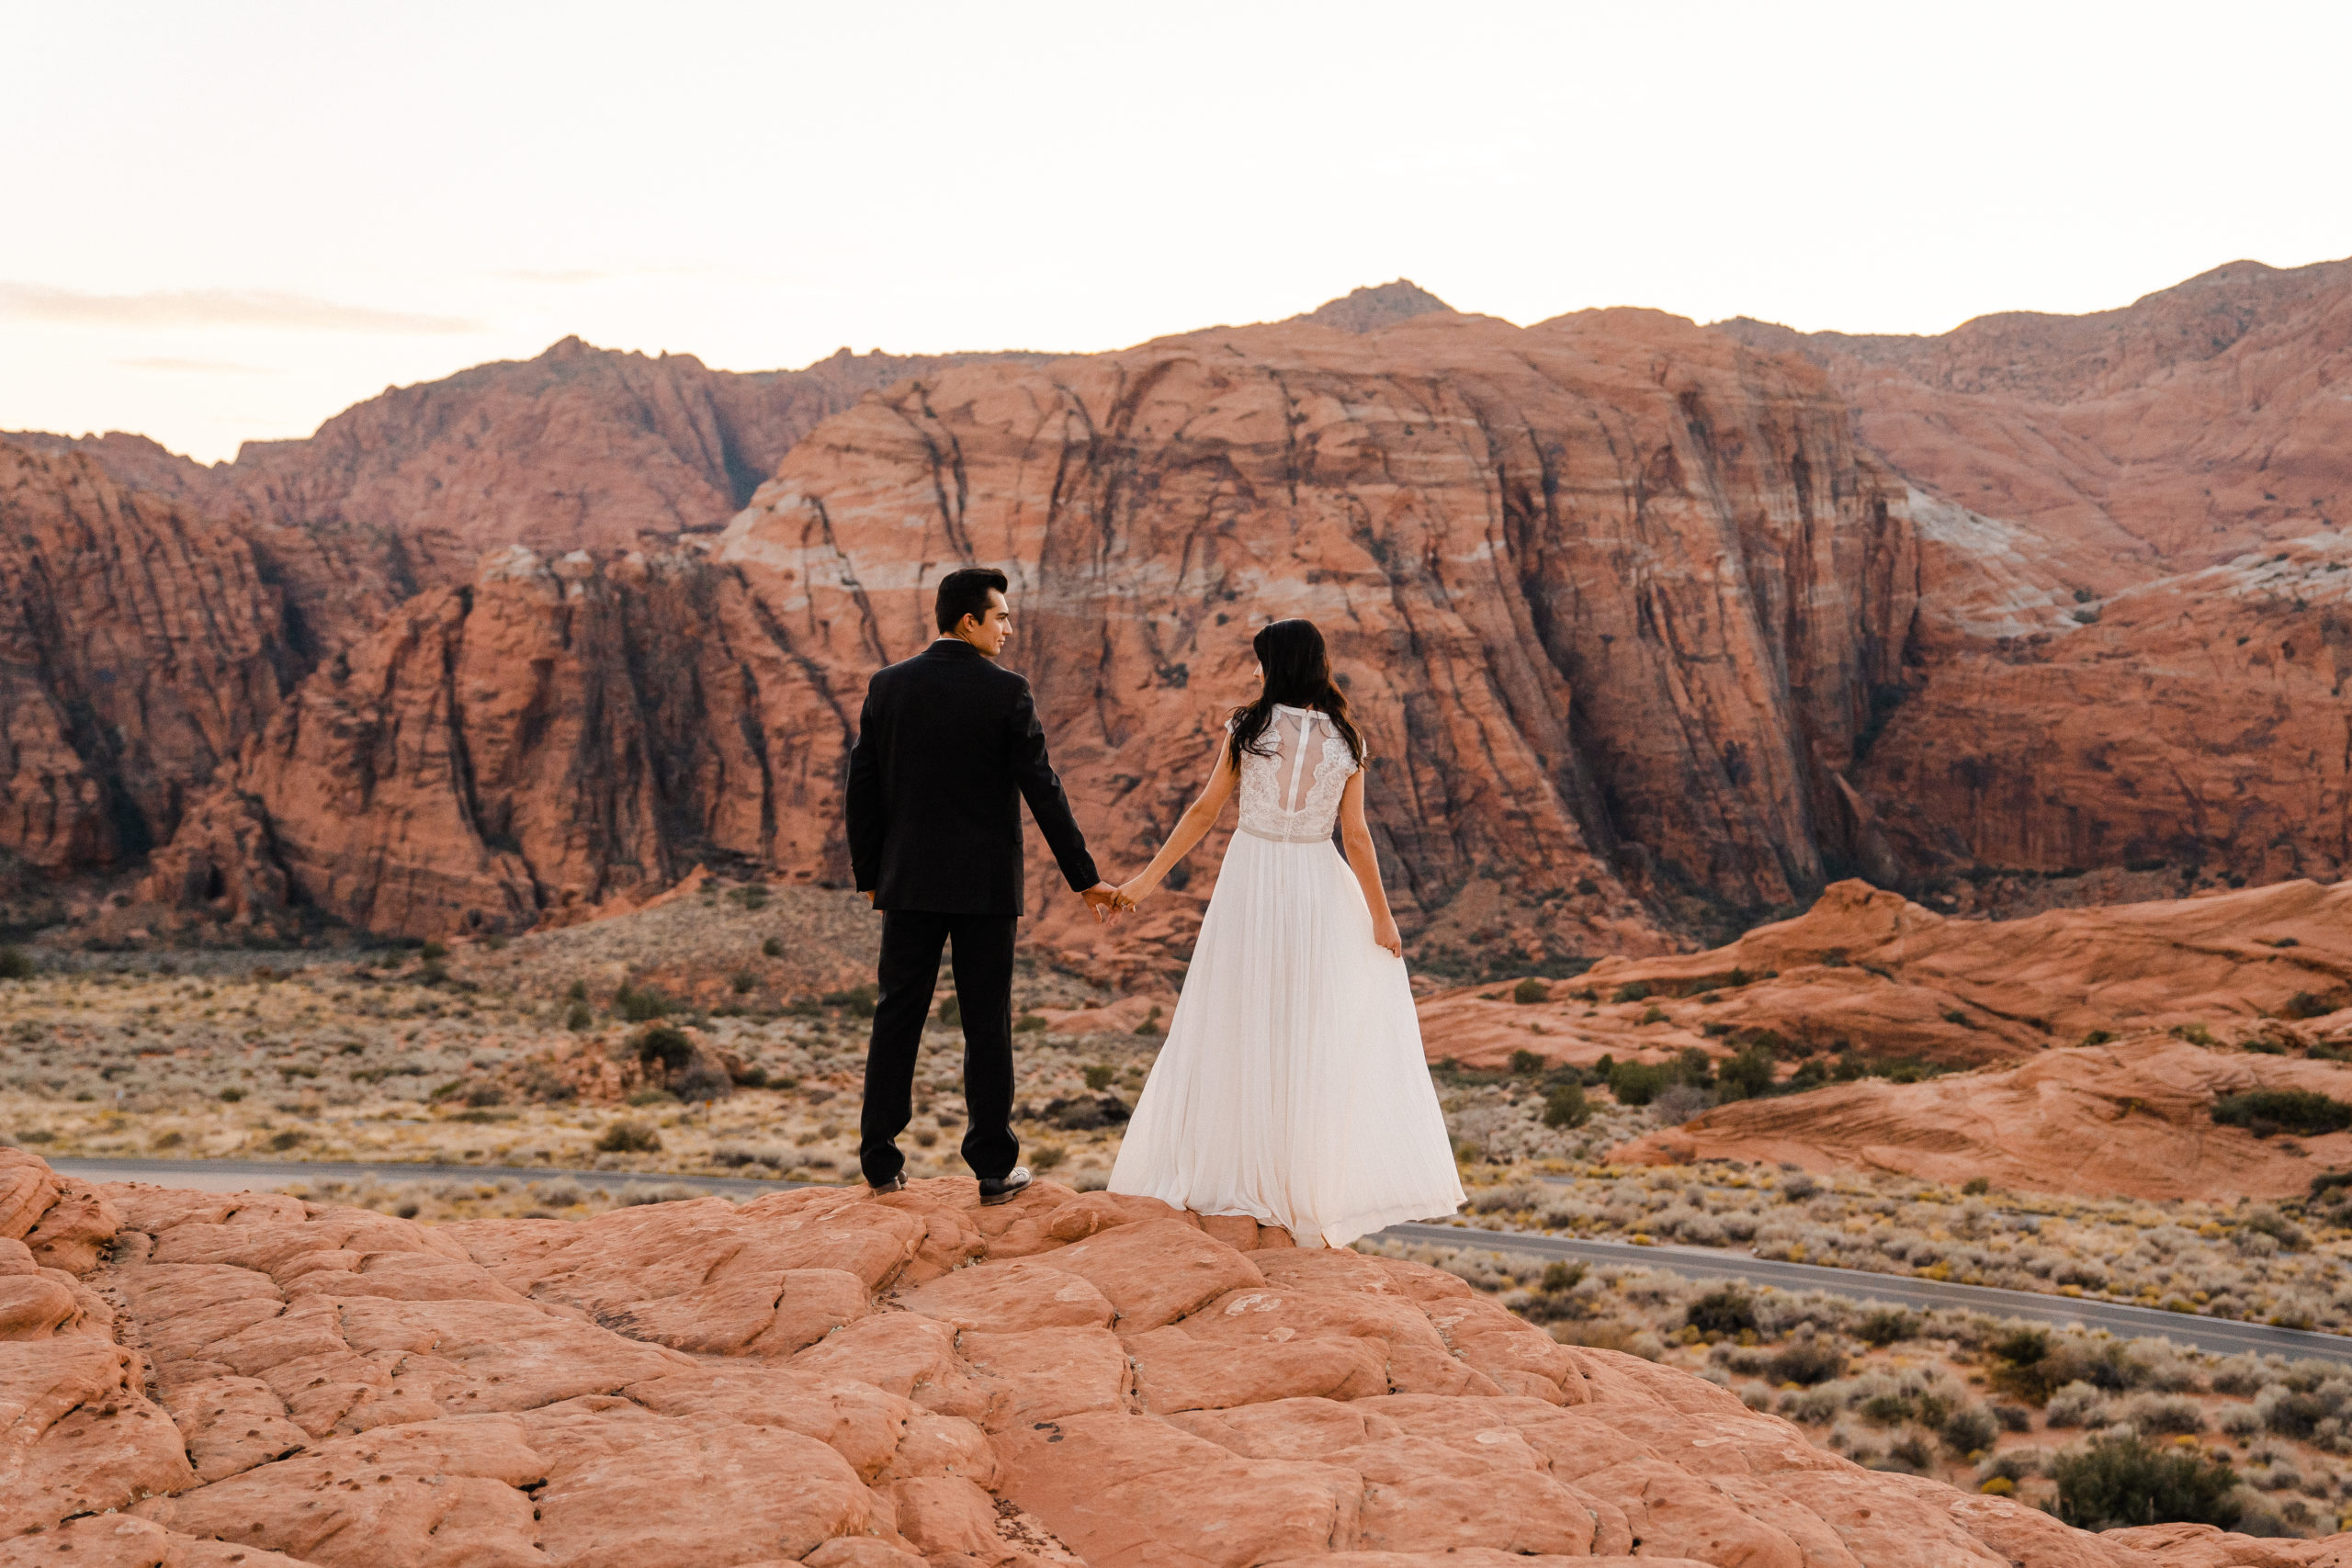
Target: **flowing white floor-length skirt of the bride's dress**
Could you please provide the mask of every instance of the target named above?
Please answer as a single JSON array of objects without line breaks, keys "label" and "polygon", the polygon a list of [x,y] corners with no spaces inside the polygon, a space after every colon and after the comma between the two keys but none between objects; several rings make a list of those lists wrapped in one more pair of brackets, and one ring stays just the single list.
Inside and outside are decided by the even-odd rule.
[{"label": "flowing white floor-length skirt of the bride's dress", "polygon": [[1329,842],[1232,835],[1110,1190],[1301,1246],[1461,1208],[1414,990]]}]

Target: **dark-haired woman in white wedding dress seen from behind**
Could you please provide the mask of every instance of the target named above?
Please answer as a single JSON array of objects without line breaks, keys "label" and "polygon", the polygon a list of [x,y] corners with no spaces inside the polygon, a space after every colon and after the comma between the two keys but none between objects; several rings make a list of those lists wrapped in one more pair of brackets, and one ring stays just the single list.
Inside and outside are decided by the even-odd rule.
[{"label": "dark-haired woman in white wedding dress seen from behind", "polygon": [[1225,719],[1200,799],[1120,889],[1148,898],[1240,792],[1240,832],[1110,1190],[1348,1246],[1454,1213],[1463,1187],[1364,827],[1364,741],[1322,632],[1275,621],[1251,649],[1258,701]]}]

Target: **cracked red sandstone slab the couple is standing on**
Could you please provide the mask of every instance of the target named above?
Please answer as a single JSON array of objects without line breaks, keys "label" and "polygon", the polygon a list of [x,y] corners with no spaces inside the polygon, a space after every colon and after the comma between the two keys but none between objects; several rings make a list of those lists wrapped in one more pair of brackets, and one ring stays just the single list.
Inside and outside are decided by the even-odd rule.
[{"label": "cracked red sandstone slab the couple is standing on", "polygon": [[9,1568],[2317,1568],[2347,1544],[2084,1535],[1555,1345],[1449,1274],[1051,1182],[445,1227],[103,1197],[111,1260],[80,1274],[0,1225],[0,1300],[75,1300],[0,1328]]}]

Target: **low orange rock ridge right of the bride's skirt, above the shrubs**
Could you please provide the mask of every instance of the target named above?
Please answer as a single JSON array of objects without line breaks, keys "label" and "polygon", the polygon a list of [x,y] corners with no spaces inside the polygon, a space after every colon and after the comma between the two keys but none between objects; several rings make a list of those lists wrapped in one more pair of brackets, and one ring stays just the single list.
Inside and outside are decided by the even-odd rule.
[{"label": "low orange rock ridge right of the bride's skirt, above the shrubs", "polygon": [[[1541,1001],[1463,987],[1421,1004],[1430,1058],[1592,1065],[1769,1037],[1780,1053],[2009,1065],[2093,1034],[2209,1030],[2310,1048],[2352,1034],[2352,886],[1952,919],[1867,882],[1726,947],[1602,959]],[[1809,1095],[1802,1103],[1813,1105]],[[1740,1112],[1748,1114],[1748,1112]]]}]

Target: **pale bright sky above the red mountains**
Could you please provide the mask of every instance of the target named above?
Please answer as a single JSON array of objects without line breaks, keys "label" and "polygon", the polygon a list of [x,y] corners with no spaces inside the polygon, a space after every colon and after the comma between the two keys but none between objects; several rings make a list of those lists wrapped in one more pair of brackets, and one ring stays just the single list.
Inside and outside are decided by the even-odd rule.
[{"label": "pale bright sky above the red mountains", "polygon": [[2336,5],[0,0],[0,428],[579,334],[1096,350],[1411,277],[1947,331],[2352,254]]}]

